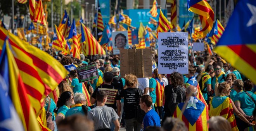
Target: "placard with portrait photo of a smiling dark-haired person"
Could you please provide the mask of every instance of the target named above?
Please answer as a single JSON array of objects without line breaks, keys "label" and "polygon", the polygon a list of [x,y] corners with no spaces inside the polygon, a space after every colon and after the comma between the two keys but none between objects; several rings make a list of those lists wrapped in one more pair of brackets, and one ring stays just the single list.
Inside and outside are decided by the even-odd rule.
[{"label": "placard with portrait photo of a smiling dark-haired person", "polygon": [[113,54],[120,54],[120,49],[129,49],[128,45],[128,32],[116,31],[112,32]]}]

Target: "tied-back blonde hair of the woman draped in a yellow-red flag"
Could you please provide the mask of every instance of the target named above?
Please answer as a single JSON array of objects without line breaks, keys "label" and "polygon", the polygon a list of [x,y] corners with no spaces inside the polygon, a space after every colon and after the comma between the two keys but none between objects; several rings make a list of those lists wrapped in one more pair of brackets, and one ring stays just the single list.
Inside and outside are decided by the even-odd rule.
[{"label": "tied-back blonde hair of the woman draped in a yellow-red flag", "polygon": [[216,96],[225,96],[227,94],[227,89],[230,87],[228,82],[216,83],[215,84],[215,95]]}]

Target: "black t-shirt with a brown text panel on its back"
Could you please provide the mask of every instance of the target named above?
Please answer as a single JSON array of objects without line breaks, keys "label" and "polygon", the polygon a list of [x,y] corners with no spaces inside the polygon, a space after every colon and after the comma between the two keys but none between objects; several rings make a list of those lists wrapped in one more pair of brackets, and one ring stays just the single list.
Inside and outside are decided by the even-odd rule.
[{"label": "black t-shirt with a brown text panel on its back", "polygon": [[103,84],[101,86],[96,87],[95,91],[92,94],[92,97],[94,99],[96,99],[96,93],[99,90],[104,90],[107,92],[107,102],[105,105],[108,107],[112,107],[113,109],[117,109],[116,100],[121,100],[118,90],[114,89],[114,87],[111,85]]}]

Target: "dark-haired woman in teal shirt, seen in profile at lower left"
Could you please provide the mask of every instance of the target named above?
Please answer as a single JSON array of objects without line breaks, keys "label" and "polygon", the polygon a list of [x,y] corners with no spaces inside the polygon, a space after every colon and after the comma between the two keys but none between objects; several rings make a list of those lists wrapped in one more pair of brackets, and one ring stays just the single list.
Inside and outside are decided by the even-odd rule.
[{"label": "dark-haired woman in teal shirt, seen in profile at lower left", "polygon": [[61,94],[57,102],[57,116],[56,123],[65,118],[66,112],[70,106],[74,105],[74,96],[71,92],[65,91]]}]

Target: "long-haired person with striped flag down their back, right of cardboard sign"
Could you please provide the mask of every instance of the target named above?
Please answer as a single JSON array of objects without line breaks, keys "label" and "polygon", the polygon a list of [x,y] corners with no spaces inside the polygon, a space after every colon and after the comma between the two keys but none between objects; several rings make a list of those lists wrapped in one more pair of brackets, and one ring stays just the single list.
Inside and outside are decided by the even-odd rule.
[{"label": "long-haired person with striped flag down their back, right of cardboard sign", "polygon": [[164,100],[164,82],[161,74],[158,74],[158,69],[154,69],[153,78],[156,79],[156,103],[155,110],[160,118],[162,118],[163,113],[163,100]]}]

